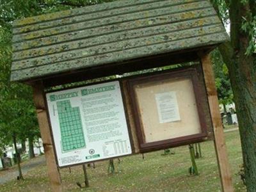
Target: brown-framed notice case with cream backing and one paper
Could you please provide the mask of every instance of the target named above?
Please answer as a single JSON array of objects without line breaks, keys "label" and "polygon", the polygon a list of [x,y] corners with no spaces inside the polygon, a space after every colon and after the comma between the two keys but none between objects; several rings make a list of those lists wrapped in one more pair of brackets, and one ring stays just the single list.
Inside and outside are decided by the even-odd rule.
[{"label": "brown-framed notice case with cream backing and one paper", "polygon": [[207,136],[196,68],[131,79],[129,88],[141,152]]}]

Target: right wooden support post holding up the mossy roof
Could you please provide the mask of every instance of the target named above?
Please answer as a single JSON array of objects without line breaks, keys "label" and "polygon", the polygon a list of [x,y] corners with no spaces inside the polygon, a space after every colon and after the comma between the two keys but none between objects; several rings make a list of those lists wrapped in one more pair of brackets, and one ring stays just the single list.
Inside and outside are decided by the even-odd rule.
[{"label": "right wooden support post holding up the mossy roof", "polygon": [[223,191],[231,192],[234,191],[232,186],[232,174],[230,172],[230,164],[228,163],[227,149],[225,145],[225,137],[223,125],[221,122],[218,95],[214,81],[214,72],[211,65],[211,58],[209,54],[200,54],[200,58],[204,71],[205,86],[207,88],[212,125],[214,128],[214,145],[218,159],[221,186]]}]

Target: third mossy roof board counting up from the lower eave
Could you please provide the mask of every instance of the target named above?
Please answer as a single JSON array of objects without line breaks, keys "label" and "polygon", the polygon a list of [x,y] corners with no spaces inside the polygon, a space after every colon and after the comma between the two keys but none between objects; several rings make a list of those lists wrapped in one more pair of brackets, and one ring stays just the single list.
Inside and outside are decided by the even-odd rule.
[{"label": "third mossy roof board counting up from the lower eave", "polygon": [[[13,61],[23,60],[27,58],[33,58],[36,56],[44,56],[47,54],[54,54],[58,52],[67,52],[74,49],[82,49],[86,47],[92,47],[93,45],[110,44],[113,42],[120,42],[124,40],[130,40],[132,38],[142,38],[146,36],[160,35],[168,32],[182,31],[184,29],[191,29],[196,27],[204,27],[209,25],[220,24],[217,16],[205,17],[203,19],[186,20],[184,22],[178,22],[174,24],[164,24],[161,26],[153,26],[150,28],[140,28],[131,31],[122,31],[119,33],[111,33],[107,35],[100,35],[97,38],[86,38],[82,40],[74,40],[72,42],[64,42],[56,45],[49,45],[46,47],[40,47],[35,49],[29,49],[26,51],[13,52]],[[222,27],[222,26],[221,26]],[[96,33],[97,31],[95,31]],[[92,34],[95,34],[92,33]],[[88,33],[86,33],[88,34]],[[22,47],[22,43],[15,44],[15,47]],[[18,67],[19,68],[19,67]],[[15,68],[13,68],[15,69]]]}]

